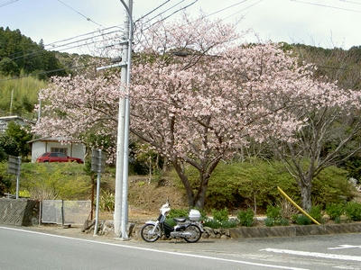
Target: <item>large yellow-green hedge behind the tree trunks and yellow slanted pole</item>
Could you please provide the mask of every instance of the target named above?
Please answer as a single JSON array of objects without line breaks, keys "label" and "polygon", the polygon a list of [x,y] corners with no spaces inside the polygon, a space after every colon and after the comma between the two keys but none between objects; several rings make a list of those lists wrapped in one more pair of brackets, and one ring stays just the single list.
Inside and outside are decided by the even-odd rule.
[{"label": "large yellow-green hedge behind the tree trunks and yellow slanted pole", "polygon": [[[199,179],[197,171],[188,168],[190,183]],[[253,207],[265,210],[276,202],[280,193],[275,186],[301,203],[301,193],[295,179],[278,161],[253,160],[243,163],[220,163],[208,184],[206,207],[222,209]],[[336,166],[324,169],[312,183],[312,202],[325,206],[329,202],[352,199],[353,187],[347,182],[347,171]]]}]

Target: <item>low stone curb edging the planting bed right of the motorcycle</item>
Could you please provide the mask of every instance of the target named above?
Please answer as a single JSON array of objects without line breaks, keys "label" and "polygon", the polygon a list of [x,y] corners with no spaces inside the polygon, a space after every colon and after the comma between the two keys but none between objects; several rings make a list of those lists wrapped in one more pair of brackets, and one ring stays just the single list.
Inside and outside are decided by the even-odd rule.
[{"label": "low stone curb edging the planting bed right of the motorcycle", "polygon": [[231,238],[274,238],[361,232],[361,222],[324,225],[240,227],[229,229]]}]

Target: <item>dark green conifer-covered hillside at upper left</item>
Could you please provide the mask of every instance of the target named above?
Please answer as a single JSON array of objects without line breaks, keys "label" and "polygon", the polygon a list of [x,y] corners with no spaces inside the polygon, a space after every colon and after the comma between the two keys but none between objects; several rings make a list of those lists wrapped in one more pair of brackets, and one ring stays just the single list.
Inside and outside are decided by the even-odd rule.
[{"label": "dark green conifer-covered hillside at upper left", "polygon": [[[3,76],[36,75],[44,79],[66,75],[55,53],[44,49],[19,30],[0,27],[0,74]],[[56,70],[56,71],[52,71]]]}]

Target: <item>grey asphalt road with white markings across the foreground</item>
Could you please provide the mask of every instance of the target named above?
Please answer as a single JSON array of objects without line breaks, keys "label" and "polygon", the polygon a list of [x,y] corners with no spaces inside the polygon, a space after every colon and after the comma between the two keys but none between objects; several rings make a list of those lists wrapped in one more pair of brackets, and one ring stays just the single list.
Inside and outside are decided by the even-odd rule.
[{"label": "grey asphalt road with white markings across the foreground", "polygon": [[361,269],[361,233],[121,242],[0,226],[0,269]]}]

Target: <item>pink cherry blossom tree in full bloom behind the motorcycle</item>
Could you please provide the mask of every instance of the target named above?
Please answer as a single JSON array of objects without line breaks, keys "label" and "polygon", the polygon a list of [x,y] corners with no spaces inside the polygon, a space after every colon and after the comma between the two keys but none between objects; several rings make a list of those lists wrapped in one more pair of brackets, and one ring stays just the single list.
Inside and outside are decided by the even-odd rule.
[{"label": "pink cherry blossom tree in full bloom behind the motorcycle", "polygon": [[[338,103],[337,89],[315,81],[310,65],[300,66],[278,45],[239,38],[230,25],[185,17],[137,39],[131,131],[171,162],[190,206],[203,208],[220,160],[250,138],[292,142],[306,124],[297,108]],[[80,139],[92,130],[114,139],[118,89],[116,76],[54,78],[41,93],[47,105],[35,130]],[[187,166],[198,170],[196,183]]]}]

